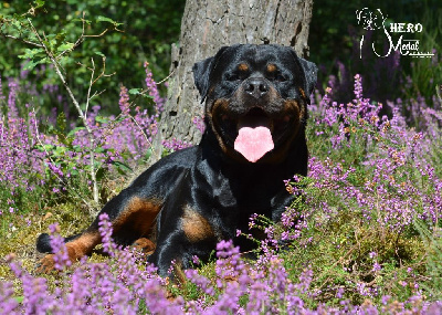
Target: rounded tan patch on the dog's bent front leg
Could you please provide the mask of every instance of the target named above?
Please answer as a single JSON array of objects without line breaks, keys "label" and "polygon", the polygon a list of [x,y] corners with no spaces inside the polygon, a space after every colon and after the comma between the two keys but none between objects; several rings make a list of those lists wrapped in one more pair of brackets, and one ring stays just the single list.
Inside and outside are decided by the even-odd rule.
[{"label": "rounded tan patch on the dog's bent front leg", "polygon": [[190,207],[185,208],[185,213],[181,218],[181,228],[192,243],[214,237],[212,225],[210,225],[209,221]]}]

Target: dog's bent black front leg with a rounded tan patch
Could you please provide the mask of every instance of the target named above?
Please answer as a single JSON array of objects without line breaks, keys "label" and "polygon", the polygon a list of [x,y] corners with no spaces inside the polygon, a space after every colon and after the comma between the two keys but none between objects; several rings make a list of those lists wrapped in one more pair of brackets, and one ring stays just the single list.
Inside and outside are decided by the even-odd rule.
[{"label": "dog's bent black front leg with a rounded tan patch", "polygon": [[[157,219],[157,248],[148,261],[161,276],[182,280],[182,270],[192,267],[193,256],[207,261],[220,233],[197,204],[196,175],[186,171],[168,196]],[[207,200],[207,202],[210,202]],[[208,203],[203,203],[210,207]]]}]

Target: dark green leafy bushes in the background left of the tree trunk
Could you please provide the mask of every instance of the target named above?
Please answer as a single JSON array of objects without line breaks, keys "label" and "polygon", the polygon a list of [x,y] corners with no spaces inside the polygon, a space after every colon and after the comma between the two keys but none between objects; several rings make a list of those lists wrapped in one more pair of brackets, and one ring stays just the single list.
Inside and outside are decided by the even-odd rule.
[{"label": "dark green leafy bushes in the background left of the tree trunk", "polygon": [[[90,81],[90,71],[85,65],[91,64],[91,57],[106,56],[106,73],[115,75],[98,82],[96,90],[106,90],[101,104],[116,104],[120,83],[125,86],[141,85],[145,77],[143,63],[146,60],[149,60],[156,77],[168,75],[170,44],[178,40],[185,1],[3,1],[1,6],[0,38],[8,34],[35,41],[29,29],[30,19],[35,29],[45,34],[44,41],[51,50],[60,55],[59,62],[81,103],[85,101]],[[72,51],[83,33],[83,21],[85,36]],[[97,36],[99,34],[103,35]],[[0,51],[9,52],[0,54],[3,77],[18,77],[23,59],[27,70],[48,62],[42,48],[30,48],[21,40],[0,41]],[[67,53],[69,56],[65,56]],[[32,71],[31,76],[35,75]],[[45,72],[39,83],[40,88],[45,84],[60,85],[51,71]],[[113,108],[107,106],[106,111],[115,113]]]}]

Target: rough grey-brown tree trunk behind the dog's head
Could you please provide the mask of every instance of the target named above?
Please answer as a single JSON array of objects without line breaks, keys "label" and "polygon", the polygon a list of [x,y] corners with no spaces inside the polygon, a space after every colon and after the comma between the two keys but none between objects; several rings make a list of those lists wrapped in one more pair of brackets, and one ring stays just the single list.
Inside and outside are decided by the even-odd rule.
[{"label": "rough grey-brown tree trunk behind the dog's head", "polygon": [[308,56],[313,0],[187,0],[179,46],[172,46],[169,90],[154,143],[154,160],[161,141],[177,138],[198,143],[192,123],[203,106],[193,85],[192,65],[223,45],[276,43]]}]

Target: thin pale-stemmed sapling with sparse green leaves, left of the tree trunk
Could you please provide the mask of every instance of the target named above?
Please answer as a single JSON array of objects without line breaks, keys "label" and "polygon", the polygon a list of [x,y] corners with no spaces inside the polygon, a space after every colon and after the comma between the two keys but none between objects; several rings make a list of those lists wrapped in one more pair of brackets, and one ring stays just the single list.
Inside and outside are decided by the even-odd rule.
[{"label": "thin pale-stemmed sapling with sparse green leaves, left of the tree trunk", "polygon": [[[103,61],[103,66],[102,70],[99,70],[95,65],[94,57],[91,57],[91,65],[87,66],[87,70],[91,72],[90,74],[90,84],[86,92],[86,97],[85,101],[82,102],[78,101],[78,96],[75,96],[73,93],[70,84],[67,83],[67,80],[65,77],[65,74],[63,73],[63,64],[66,63],[66,61],[71,61],[71,53],[72,51],[77,48],[86,38],[90,36],[102,36],[104,35],[108,30],[117,30],[120,23],[113,21],[109,18],[105,17],[98,17],[99,21],[105,21],[112,24],[109,29],[106,29],[103,33],[98,35],[88,35],[85,33],[85,25],[90,23],[90,21],[84,19],[81,19],[82,22],[82,33],[78,35],[78,38],[74,42],[70,42],[69,40],[65,39],[65,34],[61,31],[57,34],[45,34],[44,31],[35,29],[32,18],[35,15],[35,12],[40,11],[42,7],[44,7],[44,1],[35,1],[33,3],[34,6],[31,6],[30,10],[21,15],[15,14],[15,15],[1,15],[0,17],[0,25],[1,25],[1,31],[0,35],[2,38],[7,39],[12,39],[20,41],[22,43],[28,44],[31,49],[27,49],[20,57],[28,60],[28,63],[24,67],[24,70],[33,70],[35,65],[38,64],[45,64],[49,63],[53,66],[54,72],[59,76],[61,83],[63,84],[64,88],[67,92],[67,95],[70,97],[70,101],[74,105],[75,111],[78,114],[78,118],[82,122],[82,127],[86,130],[85,133],[85,138],[88,140],[88,145],[85,146],[85,148],[88,148],[88,167],[87,167],[87,174],[90,177],[90,182],[92,187],[92,195],[93,195],[93,200],[94,200],[94,206],[97,206],[98,203],[98,182],[97,182],[97,175],[99,169],[96,167],[96,161],[95,161],[95,151],[99,149],[99,147],[96,146],[95,143],[95,135],[92,129],[92,127],[88,124],[87,120],[87,114],[90,109],[90,105],[96,96],[103,93],[98,91],[94,91],[95,84],[103,77],[110,76],[109,74],[106,74],[105,72],[105,55],[102,54],[101,52],[97,52],[96,54],[102,57]],[[48,151],[48,150],[46,150]],[[56,151],[56,154],[60,154],[60,151]],[[62,151],[62,154],[64,154]],[[59,171],[59,168],[53,166],[55,168],[55,172]],[[60,175],[59,175],[60,176]]]}]

